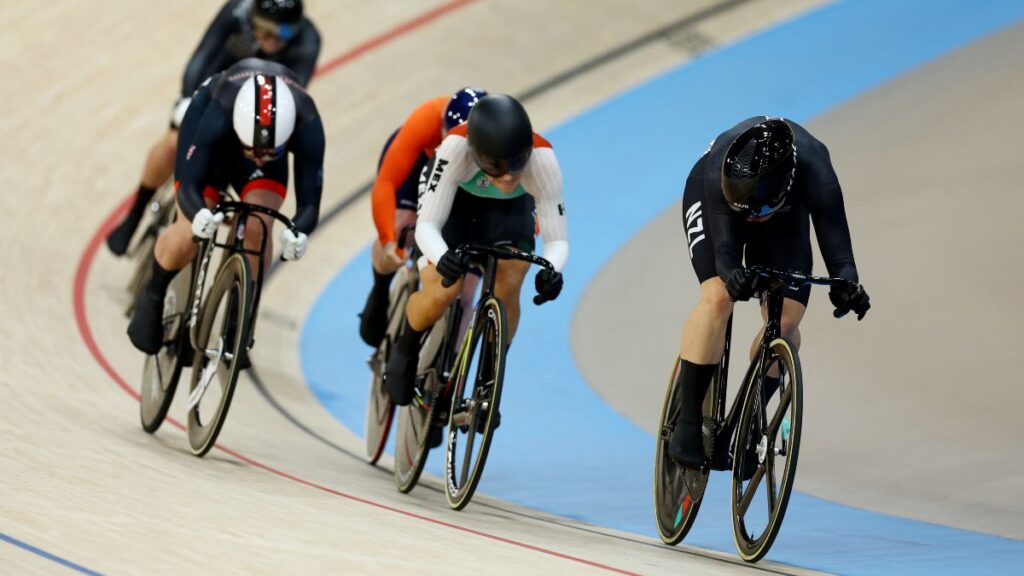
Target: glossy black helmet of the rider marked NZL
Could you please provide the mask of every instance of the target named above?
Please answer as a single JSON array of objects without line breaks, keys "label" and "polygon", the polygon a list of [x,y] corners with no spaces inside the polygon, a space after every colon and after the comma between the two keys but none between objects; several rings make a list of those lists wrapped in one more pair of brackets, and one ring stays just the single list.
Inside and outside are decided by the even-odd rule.
[{"label": "glossy black helmet of the rider marked NZL", "polygon": [[722,193],[748,219],[771,215],[785,204],[797,174],[793,128],[769,118],[739,134],[722,163]]}]

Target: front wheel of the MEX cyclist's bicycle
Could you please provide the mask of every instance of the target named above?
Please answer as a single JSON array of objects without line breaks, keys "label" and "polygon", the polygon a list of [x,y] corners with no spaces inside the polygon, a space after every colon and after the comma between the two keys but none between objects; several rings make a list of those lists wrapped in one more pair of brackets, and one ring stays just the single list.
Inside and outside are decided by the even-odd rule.
[{"label": "front wheel of the MEX cyclist's bicycle", "polygon": [[478,310],[452,377],[444,486],[456,510],[466,507],[483,475],[505,378],[505,306],[492,296]]}]

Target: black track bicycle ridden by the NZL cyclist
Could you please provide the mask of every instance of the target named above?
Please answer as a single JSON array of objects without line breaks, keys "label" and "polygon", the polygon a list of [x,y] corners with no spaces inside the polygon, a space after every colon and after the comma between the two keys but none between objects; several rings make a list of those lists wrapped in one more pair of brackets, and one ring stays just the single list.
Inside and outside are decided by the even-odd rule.
[{"label": "black track bicycle ridden by the NZL cyclist", "polygon": [[[736,551],[746,562],[764,558],[778,535],[797,474],[803,418],[803,375],[797,347],[781,335],[782,301],[787,290],[807,284],[849,281],[752,266],[767,286],[764,333],[738,393],[726,412],[726,383],[732,319],[725,352],[703,400],[701,434],[705,464],[693,469],[669,456],[669,443],[682,410],[682,394],[670,380],[662,408],[654,457],[654,515],[662,540],[678,544],[689,532],[703,498],[711,470],[732,470],[731,507]],[[678,364],[676,370],[678,370]],[[762,505],[754,505],[763,500]]]}]

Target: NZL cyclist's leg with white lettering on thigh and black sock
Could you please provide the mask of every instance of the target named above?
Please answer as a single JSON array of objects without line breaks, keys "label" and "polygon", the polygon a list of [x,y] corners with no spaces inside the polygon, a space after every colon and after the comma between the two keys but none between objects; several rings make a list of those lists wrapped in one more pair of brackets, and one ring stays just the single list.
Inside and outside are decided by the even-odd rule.
[{"label": "NZL cyclist's leg with white lettering on thigh and black sock", "polygon": [[733,306],[725,283],[718,277],[711,231],[706,225],[705,162],[701,157],[693,166],[683,193],[683,228],[690,263],[700,282],[700,299],[687,317],[680,338],[679,366],[672,385],[680,389],[682,407],[669,445],[670,456],[690,467],[699,467],[705,461],[700,410],[722,359]]}]

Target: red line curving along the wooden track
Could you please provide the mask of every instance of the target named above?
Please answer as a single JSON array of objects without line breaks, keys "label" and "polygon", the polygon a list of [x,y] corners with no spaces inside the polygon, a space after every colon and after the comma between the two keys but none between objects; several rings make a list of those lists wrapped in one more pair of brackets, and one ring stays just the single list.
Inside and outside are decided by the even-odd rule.
[{"label": "red line curving along the wooden track", "polygon": [[[435,19],[435,18],[437,18],[437,17],[445,14],[445,13],[449,13],[449,12],[455,10],[456,8],[460,8],[462,6],[470,4],[474,0],[456,0],[456,1],[450,2],[447,4],[442,4],[441,6],[439,6],[437,8],[434,8],[431,11],[425,12],[424,14],[421,14],[420,16],[418,16],[416,18],[413,18],[413,19],[411,19],[411,20],[409,20],[409,22],[407,22],[404,24],[398,25],[396,28],[394,28],[394,29],[392,29],[390,31],[387,31],[387,32],[381,34],[380,36],[375,37],[375,38],[367,41],[366,43],[356,46],[355,48],[349,50],[348,52],[345,52],[345,53],[343,53],[343,54],[341,54],[341,55],[333,58],[331,61],[329,61],[325,66],[323,66],[319,69],[317,69],[316,70],[316,74],[317,75],[327,74],[327,73],[331,72],[332,70],[335,70],[338,67],[340,67],[340,66],[342,66],[342,65],[344,65],[346,63],[349,63],[349,61],[355,59],[359,55],[361,55],[361,54],[364,54],[364,53],[366,53],[366,52],[368,52],[368,51],[370,51],[370,50],[372,50],[372,49],[374,49],[374,48],[376,48],[378,46],[381,46],[381,45],[387,43],[388,41],[390,41],[390,40],[392,40],[394,38],[397,38],[398,36],[401,36],[402,34],[411,32],[411,31],[413,31],[413,30],[415,30],[415,29],[417,29],[417,28],[419,28],[419,27],[421,27],[421,26],[423,26],[423,25],[425,25],[425,24],[427,24],[427,23],[429,23],[429,22],[431,22],[431,20],[433,20],[433,19]],[[99,364],[99,367],[102,368],[104,372],[106,372],[106,374],[111,377],[111,379],[114,380],[114,382],[116,384],[118,384],[118,386],[120,386],[121,389],[123,389],[126,394],[128,394],[128,396],[132,397],[133,399],[135,399],[137,401],[139,399],[138,393],[135,390],[135,388],[133,386],[131,386],[127,382],[127,380],[125,380],[121,376],[121,374],[119,374],[117,372],[117,370],[114,369],[114,366],[110,363],[110,361],[106,360],[106,357],[103,356],[103,352],[101,349],[99,349],[99,344],[96,343],[96,339],[92,335],[92,328],[89,326],[89,318],[88,318],[88,314],[87,314],[87,310],[86,310],[86,302],[85,302],[85,287],[86,287],[86,284],[88,283],[88,280],[89,280],[89,272],[92,270],[92,262],[93,262],[93,260],[96,257],[96,252],[99,250],[99,247],[103,243],[103,239],[106,238],[106,235],[110,234],[110,232],[114,229],[114,227],[117,225],[117,223],[121,220],[122,217],[124,217],[124,214],[127,212],[128,206],[130,205],[131,201],[132,201],[132,198],[133,198],[132,196],[129,196],[123,202],[121,202],[121,204],[119,204],[114,209],[114,211],[111,212],[111,214],[106,216],[106,218],[103,220],[103,222],[99,225],[99,229],[95,232],[95,234],[93,234],[92,238],[90,238],[89,242],[86,244],[85,250],[83,250],[83,252],[82,252],[82,257],[79,260],[78,269],[75,272],[75,285],[74,285],[73,293],[72,293],[72,301],[73,301],[73,304],[74,304],[74,307],[75,307],[75,322],[78,325],[78,329],[79,329],[79,332],[82,335],[82,340],[85,342],[85,346],[89,349],[89,353],[92,354],[92,357],[96,360],[96,363]],[[181,422],[178,422],[177,420],[175,420],[173,418],[167,418],[167,421],[170,422],[175,427],[177,427],[178,429],[182,429],[182,430],[184,429],[184,426],[181,424]],[[231,450],[230,448],[226,448],[224,446],[221,446],[220,444],[214,445],[214,448],[216,448],[217,450],[220,450],[221,452],[224,452],[225,454],[228,454],[228,455],[237,458],[240,461],[243,461],[243,462],[245,462],[245,463],[247,463],[247,464],[249,464],[251,466],[260,468],[260,469],[262,469],[264,471],[267,471],[269,474],[272,474],[272,475],[274,475],[276,477],[283,478],[285,480],[290,480],[292,482],[301,484],[303,486],[307,486],[307,487],[312,488],[314,490],[318,490],[321,492],[325,492],[325,493],[328,493],[328,494],[331,494],[331,495],[334,495],[334,496],[345,498],[345,499],[351,500],[353,502],[358,502],[360,504],[366,504],[368,506],[373,506],[375,508],[379,508],[379,509],[382,509],[382,510],[387,510],[387,511],[390,511],[390,512],[398,513],[398,515],[404,516],[407,518],[413,518],[413,519],[420,520],[420,521],[423,521],[423,522],[428,522],[430,524],[434,524],[434,525],[437,525],[437,526],[443,526],[445,528],[451,528],[453,530],[458,530],[460,532],[464,532],[464,533],[467,533],[467,534],[473,534],[475,536],[480,536],[481,538],[486,538],[488,540],[494,540],[494,541],[497,541],[497,542],[502,542],[502,543],[505,543],[505,544],[510,544],[510,545],[517,546],[517,547],[520,547],[520,548],[525,548],[525,549],[528,549],[528,550],[540,552],[540,553],[543,553],[543,554],[546,554],[546,556],[550,556],[550,557],[554,557],[554,558],[558,558],[558,559],[562,559],[562,560],[567,560],[567,561],[574,562],[574,563],[578,563],[578,564],[583,564],[583,565],[590,566],[590,567],[593,567],[593,568],[597,568],[597,569],[600,569],[600,570],[605,570],[605,571],[608,571],[608,572],[614,572],[616,574],[628,574],[628,575],[631,575],[631,576],[633,576],[633,575],[636,574],[634,572],[629,572],[629,571],[626,571],[626,570],[614,568],[612,566],[607,566],[607,565],[604,565],[604,564],[600,564],[600,563],[597,563],[597,562],[585,560],[585,559],[582,559],[582,558],[579,558],[579,557],[574,557],[574,556],[569,556],[569,554],[558,552],[558,551],[551,550],[551,549],[548,549],[548,548],[542,548],[540,546],[535,546],[532,544],[527,544],[525,542],[520,542],[520,541],[517,541],[517,540],[512,540],[510,538],[505,538],[504,536],[498,536],[497,534],[490,534],[490,533],[483,532],[483,531],[480,531],[480,530],[474,530],[472,528],[466,528],[465,526],[459,526],[457,524],[452,524],[450,522],[444,522],[442,520],[433,519],[433,518],[430,518],[430,517],[426,517],[426,516],[414,513],[414,512],[411,512],[411,511],[408,511],[408,510],[402,510],[402,509],[399,509],[399,508],[396,508],[396,507],[393,507],[393,506],[389,506],[387,504],[382,504],[380,502],[375,502],[373,500],[368,500],[366,498],[360,498],[359,496],[355,496],[355,495],[352,495],[352,494],[347,494],[345,492],[341,492],[339,490],[335,490],[333,488],[329,488],[327,486],[324,486],[324,485],[321,485],[321,484],[316,484],[316,483],[310,482],[308,480],[304,480],[304,479],[299,478],[297,476],[293,476],[293,475],[288,474],[288,472],[286,472],[284,470],[274,468],[274,467],[269,466],[267,464],[264,464],[262,462],[254,460],[254,459],[252,459],[252,458],[250,458],[250,457],[248,457],[248,456],[246,456],[246,455],[244,455],[242,453],[239,453],[239,452],[236,452],[234,450]]]}]

